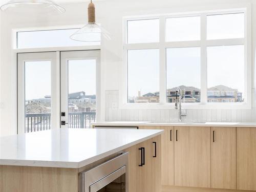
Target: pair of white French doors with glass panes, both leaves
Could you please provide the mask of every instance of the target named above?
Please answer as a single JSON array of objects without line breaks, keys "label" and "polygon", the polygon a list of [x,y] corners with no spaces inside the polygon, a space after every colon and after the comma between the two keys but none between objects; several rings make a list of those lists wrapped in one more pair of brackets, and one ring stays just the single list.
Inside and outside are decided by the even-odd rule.
[{"label": "pair of white French doors with glass panes, both leaves", "polygon": [[99,115],[97,73],[97,50],[18,53],[18,134],[58,127],[89,127]]}]

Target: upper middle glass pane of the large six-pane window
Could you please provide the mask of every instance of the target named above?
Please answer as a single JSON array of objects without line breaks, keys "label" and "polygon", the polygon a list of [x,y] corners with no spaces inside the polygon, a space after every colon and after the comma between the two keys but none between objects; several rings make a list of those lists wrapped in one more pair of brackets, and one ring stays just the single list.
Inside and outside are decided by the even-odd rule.
[{"label": "upper middle glass pane of the large six-pane window", "polygon": [[166,19],[166,41],[200,40],[200,16]]}]

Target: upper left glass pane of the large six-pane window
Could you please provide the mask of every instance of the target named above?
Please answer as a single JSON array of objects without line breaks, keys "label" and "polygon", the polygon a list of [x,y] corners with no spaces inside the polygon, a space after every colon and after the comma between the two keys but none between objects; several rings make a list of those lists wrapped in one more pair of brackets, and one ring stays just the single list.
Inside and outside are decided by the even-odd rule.
[{"label": "upper left glass pane of the large six-pane window", "polygon": [[159,19],[129,20],[127,43],[159,42]]}]

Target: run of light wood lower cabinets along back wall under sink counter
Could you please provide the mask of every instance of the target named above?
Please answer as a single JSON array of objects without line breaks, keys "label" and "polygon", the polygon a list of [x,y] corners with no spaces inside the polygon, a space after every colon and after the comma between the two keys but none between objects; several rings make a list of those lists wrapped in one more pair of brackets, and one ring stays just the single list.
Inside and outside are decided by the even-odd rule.
[{"label": "run of light wood lower cabinets along back wall under sink counter", "polygon": [[[161,135],[162,186],[256,190],[255,127],[141,126],[139,129],[164,130]],[[154,159],[152,165],[155,180],[160,168]],[[143,178],[145,173],[141,174]],[[158,184],[149,186],[153,192],[158,191],[154,189]]]}]

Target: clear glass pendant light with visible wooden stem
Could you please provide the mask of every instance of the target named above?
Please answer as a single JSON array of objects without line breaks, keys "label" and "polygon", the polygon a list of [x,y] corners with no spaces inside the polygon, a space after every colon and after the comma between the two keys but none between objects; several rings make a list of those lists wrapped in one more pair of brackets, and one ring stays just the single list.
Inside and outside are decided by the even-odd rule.
[{"label": "clear glass pendant light with visible wooden stem", "polygon": [[70,38],[78,41],[96,42],[101,41],[101,34],[104,38],[110,39],[109,32],[95,23],[95,6],[91,0],[88,6],[88,24],[71,35]]}]

